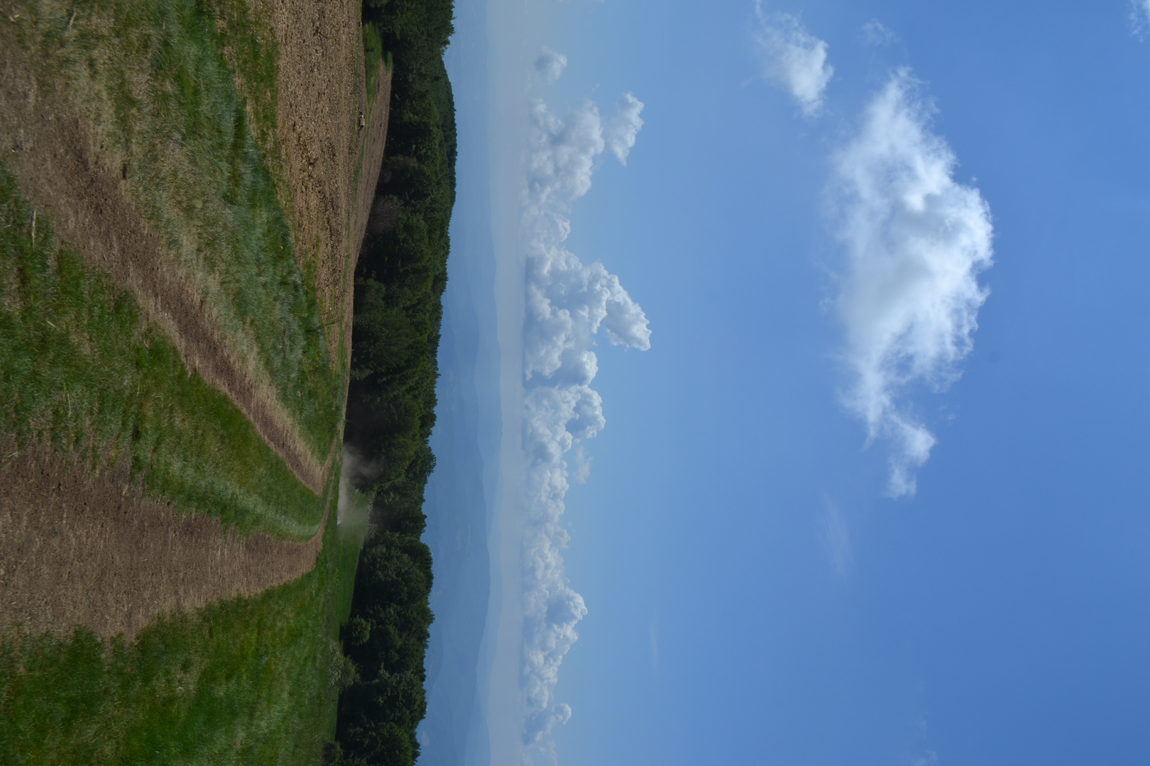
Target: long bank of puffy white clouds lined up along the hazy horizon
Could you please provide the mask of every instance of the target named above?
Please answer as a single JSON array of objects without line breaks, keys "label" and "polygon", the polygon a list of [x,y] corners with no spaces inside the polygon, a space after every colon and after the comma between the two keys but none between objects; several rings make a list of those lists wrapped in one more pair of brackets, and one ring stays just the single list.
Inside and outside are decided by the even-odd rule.
[{"label": "long bank of puffy white clouds lined up along the hazy horizon", "polygon": [[[566,57],[544,51],[536,69],[559,72],[562,67],[552,65],[555,61],[566,63]],[[542,100],[535,100],[529,110],[521,218],[527,254],[521,678],[526,766],[554,763],[552,732],[572,714],[568,705],[554,702],[554,688],[586,606],[564,572],[561,551],[568,535],[560,523],[570,478],[565,456],[576,448],[575,479],[584,480],[590,464],[577,444],[606,424],[603,399],[590,387],[599,369],[591,349],[600,330],[613,345],[651,347],[646,316],[619,278],[598,261],[584,264],[564,246],[570,232],[567,216],[572,203],[591,188],[604,153],[626,164],[643,126],[642,110],[643,103],[630,93],[619,99],[610,118],[591,101],[566,118],[555,116]]]}]

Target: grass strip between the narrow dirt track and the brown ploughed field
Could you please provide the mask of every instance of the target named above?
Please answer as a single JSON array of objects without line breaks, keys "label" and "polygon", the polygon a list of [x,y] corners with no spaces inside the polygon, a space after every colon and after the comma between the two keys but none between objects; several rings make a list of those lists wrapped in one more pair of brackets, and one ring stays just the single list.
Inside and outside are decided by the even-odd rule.
[{"label": "grass strip between the narrow dirt track and the brown ploughed field", "polygon": [[137,210],[322,463],[345,370],[299,263],[276,139],[276,46],[239,0],[34,0],[6,33],[122,161]]}]

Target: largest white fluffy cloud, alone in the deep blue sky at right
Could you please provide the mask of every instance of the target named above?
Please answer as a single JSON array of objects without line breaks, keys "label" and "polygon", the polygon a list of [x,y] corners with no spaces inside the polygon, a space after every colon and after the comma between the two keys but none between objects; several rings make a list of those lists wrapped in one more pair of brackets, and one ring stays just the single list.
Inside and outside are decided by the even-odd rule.
[{"label": "largest white fluffy cloud, alone in the deep blue sky at right", "polygon": [[903,401],[946,388],[971,351],[991,265],[990,208],[954,180],[958,161],[930,130],[933,108],[907,70],[872,99],[861,130],[833,157],[830,193],[846,246],[838,311],[853,385],[846,405],[868,441],[894,442],[892,496],[913,494],[934,435]]}]

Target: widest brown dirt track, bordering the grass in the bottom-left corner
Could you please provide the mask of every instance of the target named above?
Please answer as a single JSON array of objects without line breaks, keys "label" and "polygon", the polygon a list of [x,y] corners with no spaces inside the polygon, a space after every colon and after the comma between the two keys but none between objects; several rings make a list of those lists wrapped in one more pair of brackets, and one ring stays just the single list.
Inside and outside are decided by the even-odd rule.
[{"label": "widest brown dirt track, bordering the grass in the bottom-left corner", "polygon": [[254,595],[315,566],[328,514],[306,543],[245,539],[143,497],[126,466],[92,477],[69,463],[44,446],[0,463],[0,632],[86,625],[131,640],[162,612]]}]

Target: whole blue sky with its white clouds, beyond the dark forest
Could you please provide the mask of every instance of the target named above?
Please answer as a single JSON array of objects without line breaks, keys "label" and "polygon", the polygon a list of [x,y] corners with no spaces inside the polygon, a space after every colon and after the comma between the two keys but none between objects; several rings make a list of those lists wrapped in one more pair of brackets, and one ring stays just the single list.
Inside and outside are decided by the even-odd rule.
[{"label": "whole blue sky with its white clouds, beyond the dark forest", "polygon": [[[482,413],[451,455],[483,456],[492,590],[466,736],[432,663],[423,763],[1144,758],[1138,13],[458,0],[445,336],[474,348],[440,364]],[[531,430],[580,386],[605,427]],[[444,627],[460,588],[432,653],[481,640]]]}]

